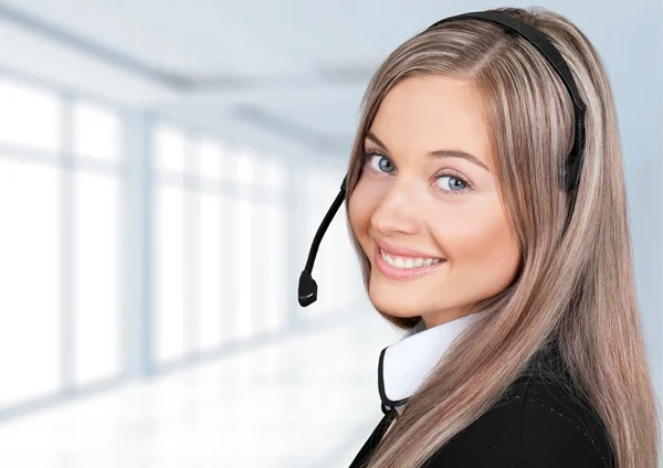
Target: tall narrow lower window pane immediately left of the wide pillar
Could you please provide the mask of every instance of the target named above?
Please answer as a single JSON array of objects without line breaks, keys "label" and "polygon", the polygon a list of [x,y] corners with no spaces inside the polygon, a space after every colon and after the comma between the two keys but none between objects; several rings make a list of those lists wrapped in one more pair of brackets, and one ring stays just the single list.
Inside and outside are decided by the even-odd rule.
[{"label": "tall narrow lower window pane immediately left of the wide pillar", "polygon": [[74,373],[78,385],[122,372],[119,199],[117,178],[74,176]]}]

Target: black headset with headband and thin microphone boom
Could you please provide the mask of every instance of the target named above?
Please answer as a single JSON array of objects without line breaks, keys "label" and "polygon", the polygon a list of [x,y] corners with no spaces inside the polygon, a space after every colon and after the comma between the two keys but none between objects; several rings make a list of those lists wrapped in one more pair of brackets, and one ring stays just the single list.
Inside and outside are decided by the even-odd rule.
[{"label": "black headset with headband and thin microphone boom", "polygon": [[[586,106],[578,94],[578,88],[576,87],[576,82],[573,81],[573,76],[571,75],[571,71],[569,70],[567,63],[562,59],[559,51],[552,45],[550,40],[538,29],[535,26],[524,23],[513,17],[509,17],[506,13],[499,11],[475,11],[471,13],[457,14],[454,17],[449,17],[443,20],[438,21],[432,24],[429,30],[435,28],[439,24],[442,24],[448,21],[455,20],[465,20],[465,19],[475,19],[490,21],[493,23],[497,23],[507,29],[507,31],[514,32],[522,38],[529,41],[539,52],[548,60],[550,65],[555,68],[561,81],[564,82],[566,88],[571,95],[571,100],[573,103],[573,115],[575,115],[575,139],[573,147],[571,151],[567,156],[564,164],[562,171],[562,180],[561,185],[562,189],[567,192],[575,191],[578,188],[579,179],[580,179],[580,170],[582,167],[582,147],[585,146],[585,114]],[[427,30],[428,31],[428,30]],[[317,255],[317,251],[319,248],[320,242],[327,227],[332,223],[334,215],[338,211],[338,208],[343,203],[346,196],[346,183],[348,176],[346,174],[343,179],[343,183],[340,184],[340,192],[336,195],[334,203],[327,211],[323,223],[318,227],[315,237],[313,240],[313,244],[311,245],[311,251],[308,252],[308,259],[306,260],[306,266],[299,275],[299,286],[298,286],[298,300],[299,306],[307,307],[316,301],[317,299],[317,284],[315,279],[312,277],[313,273],[313,263],[315,262],[315,257]],[[567,216],[567,225],[570,221],[571,213],[573,211],[576,202],[576,196],[573,194],[571,199],[571,206]]]}]

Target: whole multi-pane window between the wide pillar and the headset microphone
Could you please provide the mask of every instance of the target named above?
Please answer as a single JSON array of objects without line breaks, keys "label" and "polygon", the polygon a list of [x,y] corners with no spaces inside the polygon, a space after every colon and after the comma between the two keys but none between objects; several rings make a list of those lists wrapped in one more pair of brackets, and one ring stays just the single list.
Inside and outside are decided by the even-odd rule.
[{"label": "whole multi-pane window between the wide pillar and the headset microphone", "polygon": [[159,365],[285,327],[283,164],[162,123],[154,141]]}]

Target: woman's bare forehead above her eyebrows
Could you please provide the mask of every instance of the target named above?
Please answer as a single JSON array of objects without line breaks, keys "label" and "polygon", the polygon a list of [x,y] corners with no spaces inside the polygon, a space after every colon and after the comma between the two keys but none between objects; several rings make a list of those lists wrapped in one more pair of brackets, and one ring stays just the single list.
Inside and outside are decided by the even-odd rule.
[{"label": "woman's bare forehead above her eyebrows", "polygon": [[402,79],[385,96],[370,130],[397,156],[460,149],[492,166],[483,97],[466,79]]}]

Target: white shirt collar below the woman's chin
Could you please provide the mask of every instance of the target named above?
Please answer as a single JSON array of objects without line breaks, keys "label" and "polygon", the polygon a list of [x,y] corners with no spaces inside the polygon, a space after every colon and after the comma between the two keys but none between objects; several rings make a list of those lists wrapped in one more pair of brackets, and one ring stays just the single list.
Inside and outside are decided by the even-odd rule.
[{"label": "white shirt collar below the woman's chin", "polygon": [[398,342],[385,348],[378,363],[382,411],[385,406],[402,405],[433,371],[454,339],[486,313],[470,313],[429,329],[421,320]]}]

